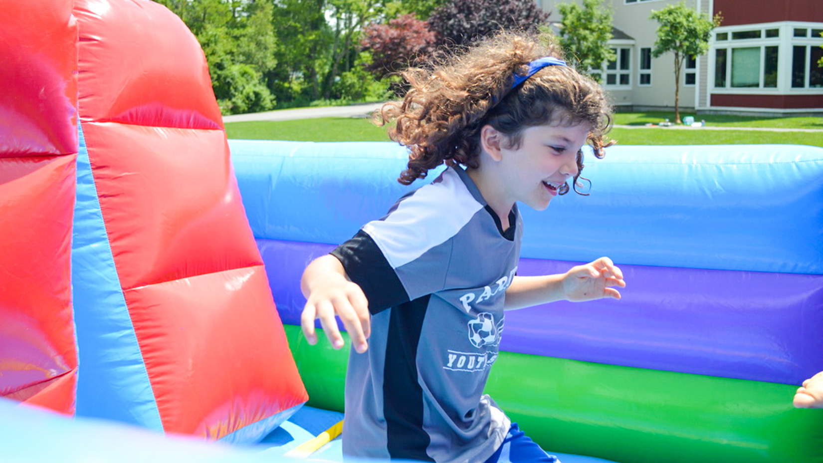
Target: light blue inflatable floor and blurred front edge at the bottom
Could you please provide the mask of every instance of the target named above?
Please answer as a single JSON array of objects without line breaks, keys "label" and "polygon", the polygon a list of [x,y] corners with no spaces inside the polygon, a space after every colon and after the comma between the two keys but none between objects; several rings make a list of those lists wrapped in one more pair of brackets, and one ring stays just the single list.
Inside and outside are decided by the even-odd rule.
[{"label": "light blue inflatable floor and blurred front edge at the bottom", "polygon": [[[144,428],[99,419],[69,418],[7,399],[0,399],[0,417],[0,461],[272,463],[300,461],[285,456],[286,452],[331,428],[342,419],[342,414],[304,406],[253,446],[230,446],[193,437],[165,436]],[[563,463],[607,462],[586,456],[557,456]],[[328,442],[303,461],[342,462],[340,438]],[[356,462],[347,459],[346,463]]]}]

